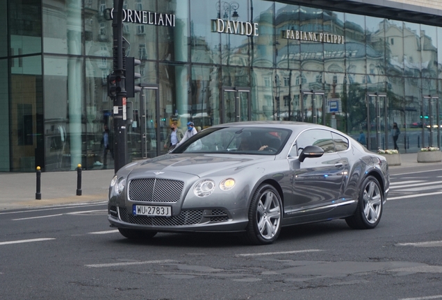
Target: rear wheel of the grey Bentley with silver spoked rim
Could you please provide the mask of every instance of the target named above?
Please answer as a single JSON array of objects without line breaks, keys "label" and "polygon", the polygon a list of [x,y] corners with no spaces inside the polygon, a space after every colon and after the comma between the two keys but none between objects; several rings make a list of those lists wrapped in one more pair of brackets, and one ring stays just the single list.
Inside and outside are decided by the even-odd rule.
[{"label": "rear wheel of the grey Bentley with silver spoked rim", "polygon": [[373,176],[364,179],[359,192],[358,205],[354,215],[345,218],[348,226],[354,229],[375,228],[382,217],[383,195],[381,185]]}]

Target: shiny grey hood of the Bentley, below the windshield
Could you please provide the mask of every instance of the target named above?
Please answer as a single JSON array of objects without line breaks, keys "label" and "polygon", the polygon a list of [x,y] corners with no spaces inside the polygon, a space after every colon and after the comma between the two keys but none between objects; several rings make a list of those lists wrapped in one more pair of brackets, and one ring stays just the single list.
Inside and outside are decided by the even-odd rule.
[{"label": "shiny grey hood of the Bentley, below the windshield", "polygon": [[199,177],[224,169],[247,167],[263,161],[275,160],[275,156],[231,155],[231,154],[167,154],[144,160],[133,167],[131,176],[142,176],[152,172],[174,172]]}]

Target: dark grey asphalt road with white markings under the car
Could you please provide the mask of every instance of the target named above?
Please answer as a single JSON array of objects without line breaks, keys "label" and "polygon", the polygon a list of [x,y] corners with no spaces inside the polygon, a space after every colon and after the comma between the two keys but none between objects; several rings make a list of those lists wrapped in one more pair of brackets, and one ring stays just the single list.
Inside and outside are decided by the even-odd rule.
[{"label": "dark grey asphalt road with white markings under the car", "polygon": [[442,171],[392,172],[374,230],[283,228],[131,242],[106,203],[0,213],[1,299],[442,299]]}]

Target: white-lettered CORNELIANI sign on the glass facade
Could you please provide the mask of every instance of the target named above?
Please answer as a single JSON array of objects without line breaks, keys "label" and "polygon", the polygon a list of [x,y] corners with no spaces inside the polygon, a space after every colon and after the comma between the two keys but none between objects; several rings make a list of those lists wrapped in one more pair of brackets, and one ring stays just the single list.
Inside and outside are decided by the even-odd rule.
[{"label": "white-lettered CORNELIANI sign on the glass facade", "polygon": [[[113,8],[111,10],[111,19],[113,19]],[[145,10],[123,10],[123,22],[174,27],[175,15]]]}]

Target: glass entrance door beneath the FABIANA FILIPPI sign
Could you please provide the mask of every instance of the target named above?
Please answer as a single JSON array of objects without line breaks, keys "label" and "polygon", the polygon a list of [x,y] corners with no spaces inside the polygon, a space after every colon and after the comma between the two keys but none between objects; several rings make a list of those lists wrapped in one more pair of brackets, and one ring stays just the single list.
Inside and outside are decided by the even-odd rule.
[{"label": "glass entrance door beneath the FABIANA FILIPPI sign", "polygon": [[325,125],[325,92],[301,90],[301,122]]}]

